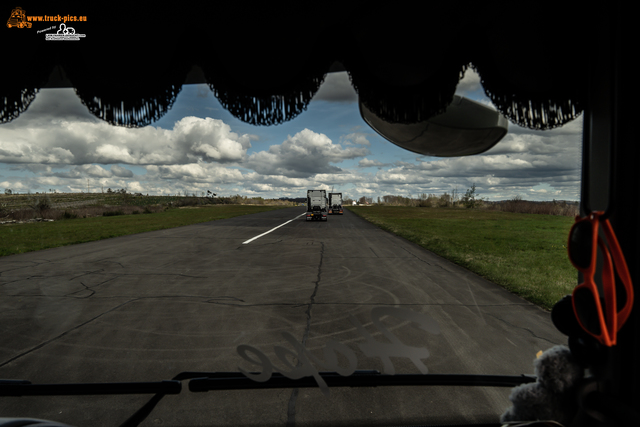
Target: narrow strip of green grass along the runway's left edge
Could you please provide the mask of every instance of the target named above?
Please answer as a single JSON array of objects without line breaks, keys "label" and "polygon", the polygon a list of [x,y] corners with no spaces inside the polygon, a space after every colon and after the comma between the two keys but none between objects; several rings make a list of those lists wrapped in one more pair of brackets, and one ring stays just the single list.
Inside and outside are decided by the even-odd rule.
[{"label": "narrow strip of green grass along the runway's left edge", "polygon": [[0,226],[0,256],[92,242],[281,209],[284,206],[211,205],[150,215],[118,215]]}]

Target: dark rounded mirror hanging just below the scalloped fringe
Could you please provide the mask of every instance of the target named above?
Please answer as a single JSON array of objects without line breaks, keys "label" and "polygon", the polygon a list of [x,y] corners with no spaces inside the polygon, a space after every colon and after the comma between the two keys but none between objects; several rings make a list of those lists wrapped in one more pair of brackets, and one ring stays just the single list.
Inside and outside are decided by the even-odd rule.
[{"label": "dark rounded mirror hanging just below the scalloped fringe", "polygon": [[382,137],[414,153],[435,157],[470,156],[487,151],[508,132],[509,121],[479,102],[454,95],[446,111],[414,124],[389,123],[360,101],[360,115]]}]

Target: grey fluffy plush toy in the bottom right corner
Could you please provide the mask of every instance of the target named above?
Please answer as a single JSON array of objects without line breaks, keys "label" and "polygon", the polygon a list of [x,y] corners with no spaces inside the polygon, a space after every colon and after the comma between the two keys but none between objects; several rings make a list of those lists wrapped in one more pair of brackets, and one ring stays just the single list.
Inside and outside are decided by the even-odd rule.
[{"label": "grey fluffy plush toy in the bottom right corner", "polygon": [[514,387],[509,395],[513,406],[500,421],[557,421],[571,424],[578,409],[576,386],[584,370],[571,351],[562,345],[545,351],[534,362],[537,381]]}]

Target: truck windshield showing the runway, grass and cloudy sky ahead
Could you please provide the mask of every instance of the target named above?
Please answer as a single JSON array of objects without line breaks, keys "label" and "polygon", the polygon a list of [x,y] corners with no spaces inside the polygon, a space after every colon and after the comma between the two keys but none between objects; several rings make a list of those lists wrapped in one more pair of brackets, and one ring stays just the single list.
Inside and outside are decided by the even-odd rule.
[{"label": "truck windshield showing the runway, grass and cloudy sky ahead", "polygon": [[[457,93],[490,104],[471,70]],[[318,384],[183,390],[143,425],[498,422],[509,387],[323,388],[317,373],[532,374],[566,343],[549,308],[575,286],[582,120],[434,158],[385,141],[357,101],[331,73],[297,118],[251,126],[184,85],[160,120],[123,128],[42,89],[0,126],[0,378]],[[306,221],[316,206],[324,220]],[[0,417],[120,425],[148,399],[2,397]]]}]

